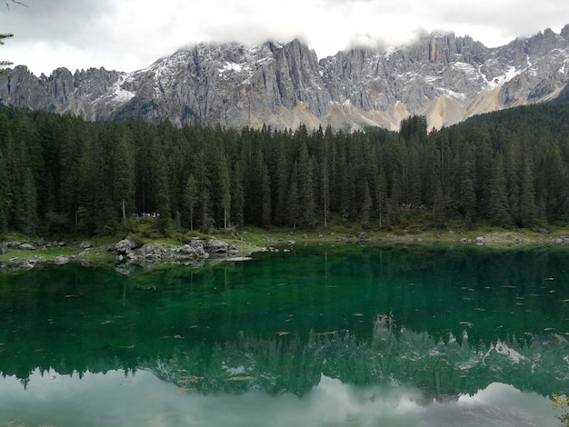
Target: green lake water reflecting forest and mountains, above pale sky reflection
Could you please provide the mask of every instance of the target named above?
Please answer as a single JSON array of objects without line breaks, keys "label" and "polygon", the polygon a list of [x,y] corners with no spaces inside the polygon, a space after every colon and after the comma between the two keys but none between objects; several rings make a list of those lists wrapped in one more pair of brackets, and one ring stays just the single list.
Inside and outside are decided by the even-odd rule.
[{"label": "green lake water reflecting forest and mountains, above pale sky reflection", "polygon": [[566,261],[351,248],[130,276],[46,266],[0,276],[0,372],[145,369],[204,393],[304,395],[322,374],[436,399],[492,382],[565,392]]}]

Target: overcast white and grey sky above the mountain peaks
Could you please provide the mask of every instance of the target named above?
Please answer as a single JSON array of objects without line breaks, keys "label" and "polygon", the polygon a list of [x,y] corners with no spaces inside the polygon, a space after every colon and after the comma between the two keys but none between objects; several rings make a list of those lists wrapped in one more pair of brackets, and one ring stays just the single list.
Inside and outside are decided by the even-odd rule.
[{"label": "overcast white and grey sky above the mountain peaks", "polygon": [[[8,0],[9,1],[9,0]],[[421,31],[488,47],[569,24],[567,0],[22,0],[0,1],[0,60],[35,74],[65,66],[135,71],[199,42],[299,38],[319,58],[354,43],[401,45]]]}]

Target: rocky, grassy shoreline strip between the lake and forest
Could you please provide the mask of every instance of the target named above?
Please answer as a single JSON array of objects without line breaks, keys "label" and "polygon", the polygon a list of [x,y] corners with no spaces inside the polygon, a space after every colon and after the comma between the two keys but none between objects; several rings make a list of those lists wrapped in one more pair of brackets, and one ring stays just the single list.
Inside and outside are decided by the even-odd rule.
[{"label": "rocky, grassy shoreline strip between the lake and forest", "polygon": [[[93,243],[91,243],[93,242]],[[244,230],[238,233],[217,233],[196,237],[189,243],[146,239],[145,243],[132,243],[127,238],[118,243],[92,241],[56,241],[45,243],[41,239],[22,242],[0,241],[7,246],[0,251],[0,273],[30,270],[47,263],[82,263],[84,265],[185,263],[204,266],[206,263],[247,259],[252,253],[292,248],[295,245],[412,245],[425,248],[466,249],[479,248],[524,250],[532,248],[569,249],[569,230],[557,229],[549,233],[532,230],[480,229],[469,232],[445,230],[441,232],[291,232],[286,230]],[[127,243],[125,243],[127,242]],[[17,244],[16,244],[17,243]],[[37,244],[37,243],[42,243]],[[125,244],[127,247],[125,249]],[[204,248],[207,248],[205,249]],[[212,249],[213,248],[213,249]],[[7,250],[6,250],[7,249]],[[211,259],[210,259],[211,255]]]}]

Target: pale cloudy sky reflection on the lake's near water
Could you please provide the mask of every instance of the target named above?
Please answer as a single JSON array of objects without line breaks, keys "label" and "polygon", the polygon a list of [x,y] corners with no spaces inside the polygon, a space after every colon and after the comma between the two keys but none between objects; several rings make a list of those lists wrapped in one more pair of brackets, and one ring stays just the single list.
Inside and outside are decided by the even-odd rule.
[{"label": "pale cloudy sky reflection on the lake's near water", "polygon": [[550,403],[533,392],[494,382],[472,396],[425,400],[397,385],[354,387],[322,376],[302,398],[203,395],[158,380],[152,373],[85,373],[83,379],[36,371],[27,389],[14,377],[0,387],[0,425],[195,426],[557,426]]}]

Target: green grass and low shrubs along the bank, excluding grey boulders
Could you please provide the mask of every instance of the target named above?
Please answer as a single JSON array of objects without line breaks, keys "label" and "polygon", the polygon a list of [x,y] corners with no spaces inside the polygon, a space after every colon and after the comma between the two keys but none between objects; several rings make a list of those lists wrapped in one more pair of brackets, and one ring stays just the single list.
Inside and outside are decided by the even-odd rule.
[{"label": "green grass and low shrubs along the bank, excluding grey boulders", "polygon": [[[414,219],[413,222],[411,220]],[[263,250],[269,245],[289,244],[344,244],[344,243],[381,243],[381,244],[422,244],[425,246],[475,245],[476,237],[484,237],[484,246],[514,248],[531,247],[536,245],[553,245],[555,238],[569,236],[569,228],[552,227],[549,233],[538,233],[529,229],[501,229],[480,225],[472,230],[466,229],[464,223],[449,222],[443,230],[435,229],[431,225],[432,217],[429,213],[406,213],[399,215],[399,224],[389,229],[378,229],[377,226],[363,226],[360,223],[344,223],[341,218],[333,216],[327,226],[321,224],[311,230],[290,227],[272,227],[263,229],[258,227],[244,227],[240,229],[228,228],[214,230],[212,233],[199,233],[196,231],[176,232],[167,230],[161,233],[153,219],[137,219],[129,223],[128,229],[115,235],[97,236],[93,238],[68,237],[65,246],[57,246],[57,240],[45,239],[51,247],[42,248],[37,244],[37,238],[31,238],[21,233],[5,233],[0,235],[0,242],[31,242],[36,246],[35,251],[26,251],[10,248],[8,253],[0,255],[0,263],[21,263],[24,259],[53,260],[56,256],[78,256],[92,263],[115,262],[113,248],[115,243],[126,237],[139,243],[154,243],[157,246],[183,245],[192,239],[209,240],[216,238],[237,248],[237,255],[245,255]],[[375,221],[375,223],[378,223]],[[377,224],[376,224],[377,225]],[[61,240],[61,239],[59,239]],[[93,248],[84,251],[79,244],[84,241],[93,244]],[[559,245],[557,243],[557,245]],[[10,261],[17,257],[15,262]]]}]

